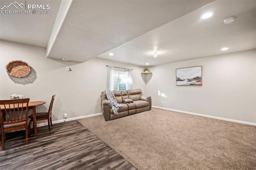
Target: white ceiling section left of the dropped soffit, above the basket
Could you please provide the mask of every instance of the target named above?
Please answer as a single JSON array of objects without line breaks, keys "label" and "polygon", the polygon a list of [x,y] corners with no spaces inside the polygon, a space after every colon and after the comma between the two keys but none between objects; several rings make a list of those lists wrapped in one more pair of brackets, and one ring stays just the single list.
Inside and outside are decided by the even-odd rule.
[{"label": "white ceiling section left of the dropped soffit, above the basket", "polygon": [[[25,2],[50,4],[49,14],[32,14],[31,11],[30,14],[0,13],[0,40],[46,47],[61,0],[0,0],[0,8],[15,1],[24,4],[24,6]],[[10,6],[8,10],[16,9]],[[18,10],[21,9],[18,8]]]}]

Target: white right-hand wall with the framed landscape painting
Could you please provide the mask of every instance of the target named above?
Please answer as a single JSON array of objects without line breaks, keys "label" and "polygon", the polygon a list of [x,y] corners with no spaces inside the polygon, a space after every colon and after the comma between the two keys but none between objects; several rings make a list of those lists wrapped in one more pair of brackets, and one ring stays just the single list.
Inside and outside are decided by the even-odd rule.
[{"label": "white right-hand wall with the framed landscape painting", "polygon": [[[202,86],[176,86],[176,69],[202,65]],[[152,105],[256,123],[256,50],[150,67]],[[147,75],[148,76],[148,75]],[[166,95],[159,96],[158,91]],[[161,104],[161,101],[164,104]]]}]

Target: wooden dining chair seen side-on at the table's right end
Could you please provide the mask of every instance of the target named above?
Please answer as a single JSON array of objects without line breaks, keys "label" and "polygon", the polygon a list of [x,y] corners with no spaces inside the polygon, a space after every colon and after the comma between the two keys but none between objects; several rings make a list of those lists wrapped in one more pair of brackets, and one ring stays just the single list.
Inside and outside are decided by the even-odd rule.
[{"label": "wooden dining chair seen side-on at the table's right end", "polygon": [[[54,98],[55,98],[55,95],[52,96],[52,100],[51,100],[48,112],[36,113],[36,121],[48,120],[49,131],[51,131],[51,127],[52,127],[52,105],[53,105]],[[34,121],[33,115],[30,115],[29,118],[31,119],[31,121]]]}]

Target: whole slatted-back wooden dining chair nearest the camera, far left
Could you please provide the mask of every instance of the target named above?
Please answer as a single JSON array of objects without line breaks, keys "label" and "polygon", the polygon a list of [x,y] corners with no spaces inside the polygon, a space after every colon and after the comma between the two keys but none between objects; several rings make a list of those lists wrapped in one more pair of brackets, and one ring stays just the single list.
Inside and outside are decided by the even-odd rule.
[{"label": "whole slatted-back wooden dining chair nearest the camera, far left", "polygon": [[[30,134],[30,118],[28,118],[29,99],[0,100],[1,113],[1,140],[2,150],[6,140],[6,132],[25,129],[26,144],[28,144],[28,135]],[[4,114],[3,114],[4,113]],[[4,115],[4,117],[3,117]]]}]

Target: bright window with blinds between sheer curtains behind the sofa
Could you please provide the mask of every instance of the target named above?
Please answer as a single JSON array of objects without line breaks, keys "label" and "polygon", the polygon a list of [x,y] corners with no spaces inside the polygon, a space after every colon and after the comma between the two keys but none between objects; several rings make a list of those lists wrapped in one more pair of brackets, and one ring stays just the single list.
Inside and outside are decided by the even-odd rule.
[{"label": "bright window with blinds between sheer curtains behind the sofa", "polygon": [[114,90],[126,90],[126,72],[114,71]]}]

